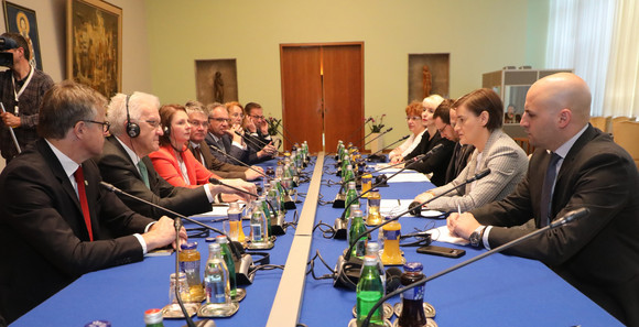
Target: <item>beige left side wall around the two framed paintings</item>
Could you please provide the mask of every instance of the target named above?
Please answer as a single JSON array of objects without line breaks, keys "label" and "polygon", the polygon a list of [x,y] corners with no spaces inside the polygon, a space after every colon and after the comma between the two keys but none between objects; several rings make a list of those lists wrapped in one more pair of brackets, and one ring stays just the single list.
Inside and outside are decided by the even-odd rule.
[{"label": "beige left side wall around the two framed paintings", "polygon": [[[66,0],[11,0],[35,10],[44,72],[54,81],[66,78]],[[143,0],[109,0],[122,8],[122,91],[151,91],[147,43],[147,10]],[[4,8],[2,18],[4,17]],[[0,30],[6,31],[4,20]]]}]

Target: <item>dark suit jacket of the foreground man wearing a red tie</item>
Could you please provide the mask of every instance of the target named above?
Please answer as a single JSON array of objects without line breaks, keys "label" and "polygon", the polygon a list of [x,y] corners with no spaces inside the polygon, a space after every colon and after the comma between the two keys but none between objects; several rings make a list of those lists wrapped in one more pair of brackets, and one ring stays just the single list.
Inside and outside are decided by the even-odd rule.
[{"label": "dark suit jacket of the foreground man wearing a red tie", "polygon": [[[8,323],[84,273],[143,258],[132,233],[154,220],[100,187],[95,162],[84,162],[83,170],[93,242],[75,189],[44,140],[0,175],[0,314]],[[105,229],[117,238],[106,239]]]}]

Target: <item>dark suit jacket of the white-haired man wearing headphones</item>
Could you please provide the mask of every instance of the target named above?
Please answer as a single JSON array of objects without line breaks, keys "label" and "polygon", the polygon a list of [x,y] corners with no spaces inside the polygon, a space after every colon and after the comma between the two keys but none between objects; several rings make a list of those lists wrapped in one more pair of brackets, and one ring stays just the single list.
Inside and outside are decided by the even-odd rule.
[{"label": "dark suit jacket of the white-haired man wearing headphones", "polygon": [[[150,188],[148,188],[138,167],[133,165],[131,157],[115,137],[107,138],[102,154],[95,161],[104,181],[123,192],[185,216],[210,211],[210,203],[202,187],[192,189],[169,184],[158,175],[149,156],[144,156],[142,162],[149,172]],[[160,219],[162,216],[172,216],[127,196],[120,196],[120,199],[132,210],[148,217]]]}]

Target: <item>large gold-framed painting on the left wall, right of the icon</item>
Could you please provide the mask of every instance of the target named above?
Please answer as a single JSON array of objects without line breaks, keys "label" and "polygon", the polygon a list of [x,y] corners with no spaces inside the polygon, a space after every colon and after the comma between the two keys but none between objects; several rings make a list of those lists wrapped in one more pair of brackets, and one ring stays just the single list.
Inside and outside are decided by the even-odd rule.
[{"label": "large gold-framed painting on the left wall, right of the icon", "polygon": [[67,0],[66,74],[110,98],[122,88],[122,9]]}]

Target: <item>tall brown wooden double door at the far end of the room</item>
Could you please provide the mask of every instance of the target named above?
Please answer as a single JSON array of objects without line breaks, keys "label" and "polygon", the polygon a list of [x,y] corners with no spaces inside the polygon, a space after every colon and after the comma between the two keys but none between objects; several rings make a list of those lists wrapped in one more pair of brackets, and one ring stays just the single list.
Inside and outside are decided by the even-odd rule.
[{"label": "tall brown wooden double door at the far end of the room", "polygon": [[[282,118],[292,142],[311,152],[357,142],[364,129],[364,44],[282,44]],[[323,142],[325,141],[325,142]],[[285,143],[285,149],[292,144]]]}]

